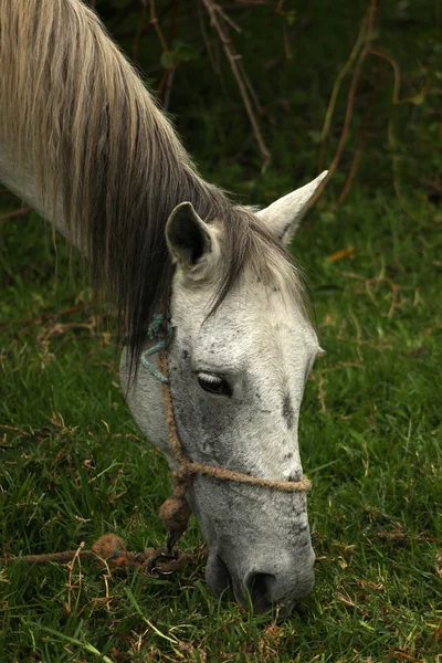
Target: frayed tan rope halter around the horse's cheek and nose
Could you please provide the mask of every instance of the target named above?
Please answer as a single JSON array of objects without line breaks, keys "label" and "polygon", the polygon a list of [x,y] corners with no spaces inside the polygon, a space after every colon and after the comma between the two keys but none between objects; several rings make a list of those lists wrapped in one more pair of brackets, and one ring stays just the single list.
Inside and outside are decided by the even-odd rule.
[{"label": "frayed tan rope halter around the horse's cheek and nose", "polygon": [[[166,351],[167,344],[170,340],[170,324],[168,322],[165,323],[161,315],[157,315],[149,325],[148,337],[151,340],[157,340],[157,344],[143,352],[141,364],[162,385],[162,398],[166,409],[169,442],[173,457],[178,463],[178,469],[172,472],[173,492],[160,507],[161,519],[169,530],[169,549],[173,547],[176,541],[187,529],[191,512],[186,499],[186,491],[191,486],[196,474],[213,476],[214,478],[222,478],[223,481],[234,481],[236,483],[262,486],[284,493],[306,493],[312,490],[312,483],[305,474],[301,481],[274,481],[272,478],[261,478],[259,476],[243,474],[242,472],[234,472],[233,470],[225,470],[223,467],[213,467],[212,465],[197,463],[189,459],[182,449],[178,434],[170,392]],[[157,352],[159,352],[160,370],[147,359],[147,357],[151,357]]]}]

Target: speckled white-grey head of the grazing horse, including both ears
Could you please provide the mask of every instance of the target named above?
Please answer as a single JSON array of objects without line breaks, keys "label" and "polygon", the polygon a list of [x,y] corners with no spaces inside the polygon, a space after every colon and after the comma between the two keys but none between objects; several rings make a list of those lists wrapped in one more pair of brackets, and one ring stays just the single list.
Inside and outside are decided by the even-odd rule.
[{"label": "speckled white-grey head of the grazing horse, including both ears", "polygon": [[[172,260],[168,345],[175,420],[194,462],[257,477],[299,481],[298,412],[318,341],[299,281],[278,243],[290,242],[323,176],[269,208],[248,211],[251,239],[241,278],[214,306],[225,274],[222,220],[179,204],[166,225]],[[269,235],[273,242],[267,241]],[[122,379],[130,410],[171,467],[160,385],[143,367]],[[215,594],[231,585],[256,611],[292,610],[314,585],[306,496],[196,476],[187,498],[209,547],[206,578]]]}]

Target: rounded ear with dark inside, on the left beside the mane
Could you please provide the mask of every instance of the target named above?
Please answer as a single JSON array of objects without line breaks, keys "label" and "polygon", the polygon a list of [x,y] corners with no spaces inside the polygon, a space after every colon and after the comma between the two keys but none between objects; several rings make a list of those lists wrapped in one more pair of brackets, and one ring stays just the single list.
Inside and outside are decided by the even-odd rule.
[{"label": "rounded ear with dark inside, on the left beside the mane", "polygon": [[211,230],[190,202],[181,202],[166,223],[166,241],[175,261],[187,267],[201,264],[213,250]]}]

